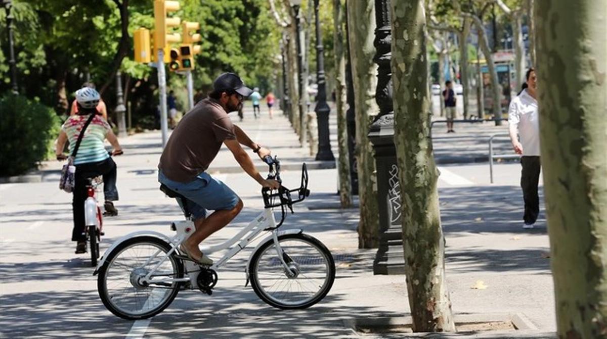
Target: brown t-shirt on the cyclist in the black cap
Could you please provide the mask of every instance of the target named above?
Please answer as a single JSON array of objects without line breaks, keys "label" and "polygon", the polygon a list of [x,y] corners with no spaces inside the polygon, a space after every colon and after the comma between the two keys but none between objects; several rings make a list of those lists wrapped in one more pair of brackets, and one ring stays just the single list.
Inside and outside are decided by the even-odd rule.
[{"label": "brown t-shirt on the cyclist in the black cap", "polygon": [[209,167],[225,139],[236,139],[228,113],[217,100],[203,99],[171,134],[158,169],[173,181],[188,183]]}]

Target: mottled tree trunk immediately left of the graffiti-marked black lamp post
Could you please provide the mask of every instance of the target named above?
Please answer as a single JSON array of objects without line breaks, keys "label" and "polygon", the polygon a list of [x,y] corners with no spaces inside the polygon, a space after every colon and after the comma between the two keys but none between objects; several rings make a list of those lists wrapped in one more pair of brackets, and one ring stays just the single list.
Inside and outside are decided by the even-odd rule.
[{"label": "mottled tree trunk immediately left of the graffiti-marked black lamp post", "polygon": [[375,3],[373,0],[347,0],[348,38],[354,83],[354,115],[356,115],[356,164],[361,221],[358,225],[358,246],[379,246],[379,207],[373,147],[367,137],[373,116],[379,113],[375,102],[377,65],[375,56]]}]

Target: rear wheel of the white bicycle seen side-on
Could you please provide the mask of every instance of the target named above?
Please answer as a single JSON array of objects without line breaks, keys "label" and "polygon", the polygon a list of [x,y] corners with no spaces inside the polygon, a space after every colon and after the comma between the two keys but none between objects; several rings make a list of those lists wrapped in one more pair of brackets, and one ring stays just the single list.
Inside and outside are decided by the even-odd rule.
[{"label": "rear wheel of the white bicycle seen side-on", "polygon": [[[161,250],[161,253],[156,257],[157,259],[148,263],[148,266],[141,267],[141,264],[148,261],[157,250]],[[147,269],[151,269],[158,264],[160,258],[164,257],[164,254],[168,253],[169,250],[171,250],[171,246],[166,241],[151,236],[131,238],[112,250],[107,255],[107,259],[101,266],[97,277],[97,290],[104,306],[113,314],[126,320],[153,317],[168,307],[177,297],[181,283],[174,282],[171,286],[135,286],[133,277],[137,277],[136,270],[140,270],[140,275],[147,274],[149,272]],[[141,257],[132,259],[128,257],[129,253],[133,253],[133,255],[141,253]],[[159,272],[164,272],[163,276],[183,278],[183,262],[176,257],[175,252],[169,256],[168,260],[164,261],[163,265],[159,267]],[[169,272],[169,270],[172,272]],[[114,275],[117,275],[117,277],[114,277]],[[135,280],[137,279],[135,278]],[[108,281],[111,283],[108,284]],[[116,286],[120,284],[124,287]],[[158,296],[160,301],[153,306],[148,306],[150,300],[152,300],[152,303],[156,302],[154,298],[150,297],[152,294],[157,295],[158,292],[163,294]],[[141,295],[145,300],[140,298]],[[122,305],[123,300],[125,305]],[[127,307],[129,304],[133,304],[133,307],[139,307],[139,309]],[[148,309],[143,309],[146,306]]]}]

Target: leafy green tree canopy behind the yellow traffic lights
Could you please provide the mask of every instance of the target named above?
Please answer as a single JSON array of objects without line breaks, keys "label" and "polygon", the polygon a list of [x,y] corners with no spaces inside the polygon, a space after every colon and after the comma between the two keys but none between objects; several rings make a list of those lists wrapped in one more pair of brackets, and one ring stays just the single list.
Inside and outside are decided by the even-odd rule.
[{"label": "leafy green tree canopy behind the yellow traffic lights", "polygon": [[[280,30],[267,0],[178,0],[181,9],[171,16],[200,22],[202,53],[196,56],[194,88],[206,92],[222,72],[236,72],[250,86],[270,90],[275,83]],[[121,37],[119,4],[123,0],[13,0],[13,35],[19,92],[65,113],[67,101],[84,81],[98,89],[108,80]],[[127,2],[128,32],[154,29],[151,0]],[[180,32],[180,28],[175,32]],[[0,10],[0,93],[10,90],[5,11]],[[154,116],[157,73],[134,62],[129,50],[121,64],[127,104],[133,122]],[[185,92],[185,77],[168,74],[168,85]],[[64,92],[63,92],[64,91]],[[110,121],[115,107],[115,82],[102,93]],[[182,95],[185,98],[185,96]],[[180,100],[181,101],[181,100]],[[186,102],[181,102],[186,106]]]}]

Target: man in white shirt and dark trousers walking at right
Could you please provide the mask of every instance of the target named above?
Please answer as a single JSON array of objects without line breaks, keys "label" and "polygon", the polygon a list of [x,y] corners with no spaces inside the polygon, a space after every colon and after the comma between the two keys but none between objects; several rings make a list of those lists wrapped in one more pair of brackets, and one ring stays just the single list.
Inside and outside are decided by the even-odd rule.
[{"label": "man in white shirt and dark trousers walking at right", "polygon": [[540,180],[540,126],[535,99],[535,70],[527,70],[525,78],[523,90],[510,102],[508,129],[514,152],[522,155],[521,188],[525,203],[523,228],[532,229],[540,213],[540,198],[537,193]]}]

